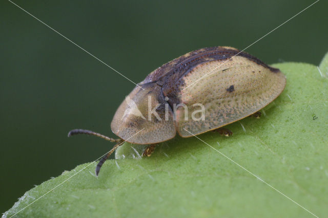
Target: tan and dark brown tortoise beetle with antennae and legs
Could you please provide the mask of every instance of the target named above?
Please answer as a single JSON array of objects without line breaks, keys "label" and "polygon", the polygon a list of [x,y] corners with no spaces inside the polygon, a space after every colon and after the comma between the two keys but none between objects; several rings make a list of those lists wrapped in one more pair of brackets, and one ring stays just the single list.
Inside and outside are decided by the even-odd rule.
[{"label": "tan and dark brown tortoise beetle with antennae and legs", "polygon": [[142,154],[150,156],[157,143],[174,138],[176,132],[183,138],[210,130],[230,136],[222,126],[259,117],[258,111],[276,99],[285,84],[279,69],[248,53],[232,47],[203,48],[163,64],[137,84],[111,122],[118,139],[85,129],[73,129],[68,136],[88,134],[116,143],[97,164],[98,176],[125,141],[150,144]]}]

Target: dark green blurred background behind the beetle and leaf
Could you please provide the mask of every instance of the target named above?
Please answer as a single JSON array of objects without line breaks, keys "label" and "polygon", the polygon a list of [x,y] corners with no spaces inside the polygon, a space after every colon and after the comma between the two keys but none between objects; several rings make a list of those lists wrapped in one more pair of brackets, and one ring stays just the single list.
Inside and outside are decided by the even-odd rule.
[{"label": "dark green blurred background behind the beetle and leaf", "polygon": [[[314,1],[14,1],[134,82],[211,46],[244,49]],[[266,63],[319,64],[327,1],[247,49]],[[113,144],[110,122],[134,84],[26,12],[0,3],[0,212],[34,185],[91,162]],[[40,195],[43,193],[40,193]]]}]

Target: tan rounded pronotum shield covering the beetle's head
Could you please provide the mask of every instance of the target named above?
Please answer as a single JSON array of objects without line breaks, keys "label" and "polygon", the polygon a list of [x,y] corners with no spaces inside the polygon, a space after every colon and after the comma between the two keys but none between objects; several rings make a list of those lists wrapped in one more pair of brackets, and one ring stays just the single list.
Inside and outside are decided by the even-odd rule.
[{"label": "tan rounded pronotum shield covering the beetle's head", "polygon": [[147,83],[142,88],[136,86],[118,107],[111,123],[113,133],[135,144],[153,144],[173,138],[176,134],[173,113],[161,87]]}]

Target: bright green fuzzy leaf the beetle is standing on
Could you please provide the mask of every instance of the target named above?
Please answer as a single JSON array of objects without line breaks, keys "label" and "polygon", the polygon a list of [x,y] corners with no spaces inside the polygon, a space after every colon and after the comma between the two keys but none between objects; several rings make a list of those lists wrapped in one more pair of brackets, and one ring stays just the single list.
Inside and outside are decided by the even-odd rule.
[{"label": "bright green fuzzy leaf the beetle is standing on", "polygon": [[328,79],[321,75],[327,62],[326,55],[321,74],[307,63],[274,64],[287,77],[286,89],[259,120],[228,125],[229,138],[198,136],[219,152],[197,138],[176,137],[137,158],[144,146],[125,143],[98,178],[96,163],[79,165],[27,191],[4,216],[67,179],[17,216],[312,216],[302,207],[326,216]]}]

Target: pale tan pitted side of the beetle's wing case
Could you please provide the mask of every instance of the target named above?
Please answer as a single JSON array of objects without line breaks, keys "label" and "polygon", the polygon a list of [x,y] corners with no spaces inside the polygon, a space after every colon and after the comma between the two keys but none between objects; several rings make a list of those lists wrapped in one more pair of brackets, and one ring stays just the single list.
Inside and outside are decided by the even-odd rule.
[{"label": "pale tan pitted side of the beetle's wing case", "polygon": [[[285,86],[285,78],[280,72],[272,73],[238,56],[225,63],[211,61],[200,64],[183,80],[185,85],[181,86],[180,98],[188,105],[189,119],[185,121],[185,110],[181,107],[176,120],[179,134],[183,137],[192,136],[183,128],[197,135],[254,114],[272,102]],[[231,84],[233,92],[227,90]],[[205,120],[192,119],[191,114],[199,110],[199,107],[192,106],[195,103],[204,105]]]}]

